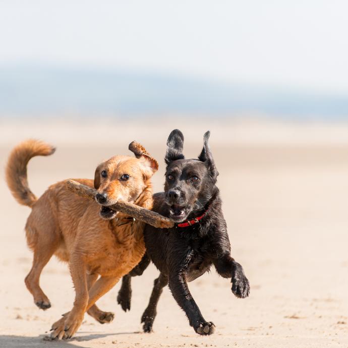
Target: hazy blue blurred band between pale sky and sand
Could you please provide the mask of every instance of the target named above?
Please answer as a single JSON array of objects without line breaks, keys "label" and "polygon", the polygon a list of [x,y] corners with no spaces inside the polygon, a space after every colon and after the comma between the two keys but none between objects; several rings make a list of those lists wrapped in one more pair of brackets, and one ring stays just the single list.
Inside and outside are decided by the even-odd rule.
[{"label": "hazy blue blurred band between pale sky and sand", "polygon": [[[0,64],[0,117],[215,115],[341,119],[348,99],[330,93],[152,71]],[[49,116],[50,115],[50,116]]]}]

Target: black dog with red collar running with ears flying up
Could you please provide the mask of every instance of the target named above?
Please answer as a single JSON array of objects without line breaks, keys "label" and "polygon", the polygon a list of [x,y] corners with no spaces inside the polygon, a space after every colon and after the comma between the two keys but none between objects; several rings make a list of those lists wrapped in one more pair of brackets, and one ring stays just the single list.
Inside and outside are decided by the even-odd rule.
[{"label": "black dog with red collar running with ears flying up", "polygon": [[130,309],[131,276],[142,274],[150,258],[160,274],[154,281],[149,305],[142,316],[145,332],[152,330],[157,302],[168,283],[195,331],[201,335],[214,332],[214,324],[203,318],[187,286],[187,281],[201,276],[212,264],[222,277],[231,278],[232,292],[237,297],[249,296],[249,281],[243,268],[230,256],[209,135],[209,132],[204,135],[204,147],[198,159],[184,158],[184,136],[179,130],[172,131],[168,137],[164,192],[154,195],[153,210],[175,220],[176,226],[159,230],[146,225],[146,255],[123,278],[118,296],[122,308]]}]

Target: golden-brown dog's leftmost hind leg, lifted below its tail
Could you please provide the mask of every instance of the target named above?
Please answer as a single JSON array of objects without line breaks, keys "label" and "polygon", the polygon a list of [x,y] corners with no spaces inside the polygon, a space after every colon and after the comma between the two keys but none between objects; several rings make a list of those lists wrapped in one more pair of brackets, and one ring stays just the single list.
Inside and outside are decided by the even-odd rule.
[{"label": "golden-brown dog's leftmost hind leg, lifted below its tail", "polygon": [[40,274],[43,267],[52,257],[54,251],[55,247],[53,247],[52,245],[35,246],[33,266],[31,267],[30,272],[24,280],[28,290],[34,297],[35,305],[43,310],[50,308],[51,304],[40,287]]}]

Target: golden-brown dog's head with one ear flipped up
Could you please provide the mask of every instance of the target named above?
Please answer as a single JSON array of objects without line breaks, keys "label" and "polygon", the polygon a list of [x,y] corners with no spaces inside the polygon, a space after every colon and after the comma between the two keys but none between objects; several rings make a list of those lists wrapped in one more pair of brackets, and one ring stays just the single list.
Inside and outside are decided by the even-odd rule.
[{"label": "golden-brown dog's head with one ear flipped up", "polygon": [[109,209],[108,205],[118,200],[134,203],[158,169],[157,161],[142,145],[133,141],[129,144],[129,149],[136,157],[114,156],[95,169],[95,200],[102,205],[100,216],[104,219],[112,219],[117,213]]}]

